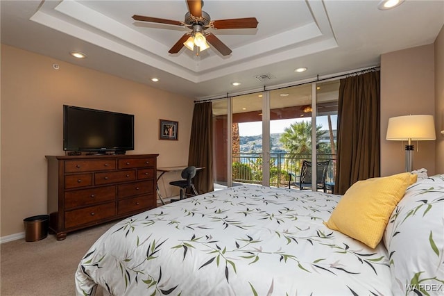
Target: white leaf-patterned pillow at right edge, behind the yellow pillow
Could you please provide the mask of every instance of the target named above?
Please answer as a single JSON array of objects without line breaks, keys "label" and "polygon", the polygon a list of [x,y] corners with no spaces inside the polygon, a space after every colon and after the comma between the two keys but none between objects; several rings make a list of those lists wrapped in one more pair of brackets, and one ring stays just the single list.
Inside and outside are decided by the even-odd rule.
[{"label": "white leaf-patterned pillow at right edge, behind the yellow pillow", "polygon": [[444,174],[407,188],[384,244],[393,295],[444,295]]}]

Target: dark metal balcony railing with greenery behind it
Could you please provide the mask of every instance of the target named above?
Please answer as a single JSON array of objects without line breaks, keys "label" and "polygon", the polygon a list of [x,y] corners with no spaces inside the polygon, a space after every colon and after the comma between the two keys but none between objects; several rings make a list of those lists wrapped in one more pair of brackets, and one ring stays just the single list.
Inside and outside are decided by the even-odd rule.
[{"label": "dark metal balcony railing with greenery behind it", "polygon": [[[300,174],[302,161],[311,161],[311,154],[270,154],[270,186],[288,186],[289,173]],[[232,154],[232,181],[262,184],[262,154]],[[317,161],[330,161],[326,182],[334,182],[336,154],[318,154]]]}]

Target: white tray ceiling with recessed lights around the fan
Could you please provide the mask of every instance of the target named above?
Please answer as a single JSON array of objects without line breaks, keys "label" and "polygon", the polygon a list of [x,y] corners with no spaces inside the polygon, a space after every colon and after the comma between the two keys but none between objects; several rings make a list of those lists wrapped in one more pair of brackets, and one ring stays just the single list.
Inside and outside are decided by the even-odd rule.
[{"label": "white tray ceiling with recessed lights around the fan", "polygon": [[[1,41],[196,99],[379,65],[381,54],[434,42],[444,24],[444,1],[405,1],[393,10],[378,3],[206,0],[212,19],[259,24],[209,29],[232,54],[210,46],[196,56],[185,47],[168,53],[187,28],[131,18],[183,21],[186,1],[1,1]],[[87,58],[74,60],[73,50]],[[256,78],[264,75],[270,79]]]}]

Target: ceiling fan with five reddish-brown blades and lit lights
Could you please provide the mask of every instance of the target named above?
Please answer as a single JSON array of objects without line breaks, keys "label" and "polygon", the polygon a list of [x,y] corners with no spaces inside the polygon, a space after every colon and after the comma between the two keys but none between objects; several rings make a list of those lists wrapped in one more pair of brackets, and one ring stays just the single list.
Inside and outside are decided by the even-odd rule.
[{"label": "ceiling fan with five reddish-brown blades and lit lights", "polygon": [[203,1],[187,0],[188,12],[185,14],[185,21],[174,21],[171,19],[160,19],[157,17],[145,17],[143,15],[133,15],[135,21],[152,22],[159,24],[171,24],[175,26],[186,26],[192,31],[185,33],[176,44],[168,51],[170,54],[177,54],[182,47],[187,47],[191,51],[196,48],[196,56],[200,51],[210,47],[207,42],[219,51],[223,56],[228,56],[232,50],[228,48],[219,38],[210,32],[205,32],[207,28],[225,29],[225,28],[257,28],[257,19],[255,17],[246,17],[241,19],[219,19],[212,21],[210,15],[202,10]]}]

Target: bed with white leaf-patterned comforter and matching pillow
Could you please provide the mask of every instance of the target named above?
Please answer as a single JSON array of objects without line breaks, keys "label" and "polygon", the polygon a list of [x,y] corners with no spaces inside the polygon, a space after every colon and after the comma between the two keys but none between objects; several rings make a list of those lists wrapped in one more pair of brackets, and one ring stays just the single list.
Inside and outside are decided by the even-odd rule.
[{"label": "bed with white leaf-patterned comforter and matching pillow", "polygon": [[444,294],[444,175],[402,193],[374,248],[325,224],[340,195],[246,185],[160,206],[96,240],[76,293]]}]

